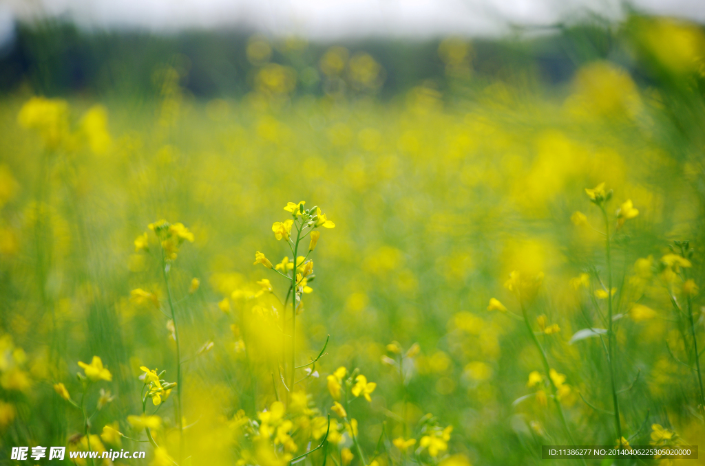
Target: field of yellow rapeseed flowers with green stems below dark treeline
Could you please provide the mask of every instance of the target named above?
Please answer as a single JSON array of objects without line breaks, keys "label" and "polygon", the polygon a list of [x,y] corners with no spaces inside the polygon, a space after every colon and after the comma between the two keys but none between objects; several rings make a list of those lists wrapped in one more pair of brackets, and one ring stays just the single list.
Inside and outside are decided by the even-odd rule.
[{"label": "field of yellow rapeseed flowers with green stems below dark treeline", "polygon": [[0,465],[702,444],[705,34],[627,30],[556,87],[449,39],[443,89],[333,47],[307,93],[253,37],[242,99],[5,96]]}]

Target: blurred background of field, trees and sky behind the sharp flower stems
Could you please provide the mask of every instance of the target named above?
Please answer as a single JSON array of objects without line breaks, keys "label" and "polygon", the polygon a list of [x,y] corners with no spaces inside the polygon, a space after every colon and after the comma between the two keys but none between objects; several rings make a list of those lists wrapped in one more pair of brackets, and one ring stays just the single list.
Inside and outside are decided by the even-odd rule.
[{"label": "blurred background of field, trees and sky behind the sharp flower stems", "polygon": [[[584,191],[600,182],[614,190],[610,215],[627,199],[639,210],[613,237],[624,436],[658,442],[658,425],[698,444],[693,341],[661,258],[689,240],[702,286],[703,21],[694,0],[4,1],[0,465],[16,464],[12,446],[85,448],[80,411],[52,386],[78,401],[77,363],[94,355],[113,379],[86,403],[98,388],[115,398],[91,433],[144,436],[126,420],[142,410],[140,366],[176,373],[168,318],[130,298],[148,291],[168,313],[147,229],[161,218],[195,237],[171,272],[192,464],[286,464],[281,444],[247,456],[252,436],[236,421],[276,398],[281,335],[257,312],[282,309],[255,282],[269,278],[282,299],[287,285],[252,260],[290,256],[271,224],[301,200],[336,224],[297,319],[301,363],[331,338],[320,377],[301,387],[306,416],[329,413],[329,374],[358,367],[377,386],[350,411],[379,466],[538,464],[541,444],[568,439],[527,386],[543,369],[524,324],[487,307],[494,297],[520,314],[503,284],[543,272],[529,316],[570,386],[572,435],[613,444],[600,341],[571,341],[602,325],[604,224]],[[147,253],[134,242],[145,232]],[[571,282],[581,274],[587,283]],[[697,338],[702,304],[694,295]],[[419,344],[403,377],[392,341]],[[172,403],[159,440],[176,458]],[[428,413],[453,426],[437,455],[421,446]],[[322,435],[296,432],[295,454]],[[341,433],[331,451],[352,448]],[[400,454],[400,436],[417,454]],[[162,464],[151,451],[146,461]]]}]

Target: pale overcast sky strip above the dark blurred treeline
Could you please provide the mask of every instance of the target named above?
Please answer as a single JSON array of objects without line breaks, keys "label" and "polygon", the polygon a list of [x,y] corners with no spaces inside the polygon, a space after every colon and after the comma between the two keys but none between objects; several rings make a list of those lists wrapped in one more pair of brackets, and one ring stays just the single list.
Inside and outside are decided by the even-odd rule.
[{"label": "pale overcast sky strip above the dark blurred treeline", "polygon": [[[646,13],[705,23],[705,0],[632,0]],[[0,39],[15,20],[41,15],[82,27],[173,32],[185,28],[249,27],[309,39],[462,34],[496,36],[510,25],[551,25],[598,13],[618,19],[618,0],[0,0]]]}]

